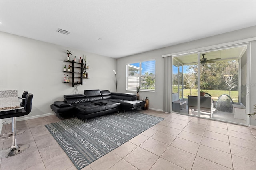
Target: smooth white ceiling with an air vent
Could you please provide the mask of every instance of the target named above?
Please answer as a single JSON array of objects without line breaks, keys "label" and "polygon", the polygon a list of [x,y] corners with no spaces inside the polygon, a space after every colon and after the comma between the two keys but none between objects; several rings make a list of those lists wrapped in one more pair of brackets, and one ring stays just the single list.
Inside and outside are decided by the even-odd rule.
[{"label": "smooth white ceiling with an air vent", "polygon": [[119,58],[255,26],[256,1],[1,0],[0,22],[2,32]]}]

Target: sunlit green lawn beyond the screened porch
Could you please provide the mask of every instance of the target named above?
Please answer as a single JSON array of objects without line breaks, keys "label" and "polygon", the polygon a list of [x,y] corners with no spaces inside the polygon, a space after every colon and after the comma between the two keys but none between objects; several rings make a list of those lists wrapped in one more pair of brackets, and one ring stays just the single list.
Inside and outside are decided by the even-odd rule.
[{"label": "sunlit green lawn beyond the screened porch", "polygon": [[[172,89],[173,93],[178,92],[177,87],[174,86],[174,88]],[[220,95],[226,94],[229,95],[229,91],[228,90],[207,90],[206,93],[209,93],[212,97],[220,97]],[[183,98],[187,99],[188,95],[190,95],[190,89],[185,89],[183,90]],[[192,89],[192,96],[197,96],[197,90],[196,89]],[[238,102],[238,91],[231,91],[231,99],[234,102]],[[214,99],[217,100],[217,99]]]}]

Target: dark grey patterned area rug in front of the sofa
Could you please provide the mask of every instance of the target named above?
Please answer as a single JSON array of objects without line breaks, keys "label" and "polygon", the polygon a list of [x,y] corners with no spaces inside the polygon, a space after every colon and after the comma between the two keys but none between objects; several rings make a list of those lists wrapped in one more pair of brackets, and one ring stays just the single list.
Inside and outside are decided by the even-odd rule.
[{"label": "dark grey patterned area rug in front of the sofa", "polygon": [[78,170],[164,120],[134,111],[45,125]]}]

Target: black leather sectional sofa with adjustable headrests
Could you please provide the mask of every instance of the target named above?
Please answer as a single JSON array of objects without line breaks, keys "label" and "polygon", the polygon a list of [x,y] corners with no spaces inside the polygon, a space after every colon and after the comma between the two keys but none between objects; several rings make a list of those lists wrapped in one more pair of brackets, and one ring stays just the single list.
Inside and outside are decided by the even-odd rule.
[{"label": "black leather sectional sofa with adjustable headrests", "polygon": [[144,105],[145,101],[136,100],[132,93],[85,90],[84,95],[64,95],[64,101],[55,101],[51,109],[58,114],[68,113],[86,120],[116,111],[131,111]]}]

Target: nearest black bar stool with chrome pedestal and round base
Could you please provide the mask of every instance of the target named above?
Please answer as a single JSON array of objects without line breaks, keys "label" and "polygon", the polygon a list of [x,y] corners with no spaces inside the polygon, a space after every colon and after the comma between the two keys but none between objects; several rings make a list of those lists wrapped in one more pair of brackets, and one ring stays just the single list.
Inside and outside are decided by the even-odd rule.
[{"label": "nearest black bar stool with chrome pedestal and round base", "polygon": [[0,158],[8,158],[20,154],[29,147],[29,144],[16,144],[16,118],[28,115],[32,109],[33,94],[28,94],[25,99],[25,106],[22,109],[2,111],[0,119],[12,118],[12,146],[0,151]]}]

